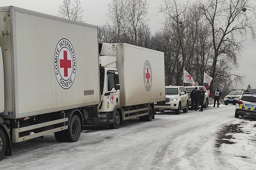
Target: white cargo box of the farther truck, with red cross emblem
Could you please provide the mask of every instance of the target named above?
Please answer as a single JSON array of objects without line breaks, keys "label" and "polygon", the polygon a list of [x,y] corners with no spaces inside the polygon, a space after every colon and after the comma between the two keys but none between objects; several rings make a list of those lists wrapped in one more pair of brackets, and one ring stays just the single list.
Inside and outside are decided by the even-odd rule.
[{"label": "white cargo box of the farther truck, with red cross emblem", "polygon": [[165,101],[164,53],[117,43],[122,106]]}]

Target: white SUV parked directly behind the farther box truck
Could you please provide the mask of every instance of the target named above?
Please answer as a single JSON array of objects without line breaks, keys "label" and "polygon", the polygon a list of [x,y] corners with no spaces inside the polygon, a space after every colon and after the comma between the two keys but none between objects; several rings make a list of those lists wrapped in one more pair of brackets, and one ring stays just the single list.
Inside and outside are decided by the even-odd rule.
[{"label": "white SUV parked directly behind the farther box truck", "polygon": [[155,103],[155,111],[174,110],[180,114],[188,112],[188,93],[183,86],[165,86],[165,102]]}]

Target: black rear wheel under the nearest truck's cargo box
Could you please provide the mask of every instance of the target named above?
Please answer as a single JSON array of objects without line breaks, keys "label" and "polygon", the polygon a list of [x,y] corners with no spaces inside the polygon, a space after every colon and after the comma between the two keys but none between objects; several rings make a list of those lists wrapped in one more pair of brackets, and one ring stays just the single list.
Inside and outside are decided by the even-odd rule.
[{"label": "black rear wheel under the nearest truck's cargo box", "polygon": [[81,134],[81,121],[78,115],[73,115],[68,128],[68,142],[76,142]]}]

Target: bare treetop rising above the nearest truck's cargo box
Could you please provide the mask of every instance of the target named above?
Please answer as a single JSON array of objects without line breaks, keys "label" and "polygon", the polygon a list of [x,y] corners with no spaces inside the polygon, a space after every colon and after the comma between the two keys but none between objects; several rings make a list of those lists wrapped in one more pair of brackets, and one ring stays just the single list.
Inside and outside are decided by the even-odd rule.
[{"label": "bare treetop rising above the nearest truck's cargo box", "polygon": [[71,0],[63,0],[62,4],[59,5],[57,16],[70,20],[84,22],[83,12],[84,10],[81,7],[80,0],[74,0],[74,2],[71,2]]}]

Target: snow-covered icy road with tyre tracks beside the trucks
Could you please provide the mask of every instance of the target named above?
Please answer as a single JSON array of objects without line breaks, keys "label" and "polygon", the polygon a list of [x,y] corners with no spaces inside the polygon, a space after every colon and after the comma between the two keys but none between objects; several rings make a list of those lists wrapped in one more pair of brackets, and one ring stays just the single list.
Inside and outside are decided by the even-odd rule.
[{"label": "snow-covered icy road with tyre tracks beside the trucks", "polygon": [[78,142],[54,135],[14,146],[1,170],[236,170],[215,148],[216,131],[236,121],[235,106],[204,112],[157,114],[151,122],[126,121],[117,130],[85,126]]}]

